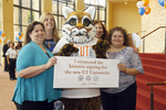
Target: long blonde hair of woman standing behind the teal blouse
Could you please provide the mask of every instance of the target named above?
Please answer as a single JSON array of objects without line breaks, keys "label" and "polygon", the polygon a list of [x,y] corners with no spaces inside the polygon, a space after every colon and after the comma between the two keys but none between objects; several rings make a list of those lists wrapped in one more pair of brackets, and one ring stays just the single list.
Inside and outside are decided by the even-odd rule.
[{"label": "long blonde hair of woman standing behind the teal blouse", "polygon": [[[44,23],[44,20],[45,20],[45,18],[48,16],[48,15],[52,15],[52,13],[51,12],[44,12],[41,16],[40,16],[40,22],[42,22],[42,23]],[[53,16],[53,15],[52,15]],[[54,16],[53,16],[53,20],[54,20]],[[56,28],[56,24],[55,24],[55,20],[54,20],[54,28],[53,28],[53,33],[52,33],[52,35],[53,35],[53,41],[54,42],[59,42],[59,40],[60,40],[60,36],[59,36],[59,32],[58,32],[58,28]]]}]

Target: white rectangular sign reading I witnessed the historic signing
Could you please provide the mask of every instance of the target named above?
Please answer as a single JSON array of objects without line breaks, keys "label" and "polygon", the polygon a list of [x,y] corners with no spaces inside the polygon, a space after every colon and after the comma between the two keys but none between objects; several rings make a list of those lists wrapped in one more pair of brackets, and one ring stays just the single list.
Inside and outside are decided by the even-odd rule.
[{"label": "white rectangular sign reading I witnessed the historic signing", "polygon": [[118,59],[56,56],[53,88],[118,87]]}]

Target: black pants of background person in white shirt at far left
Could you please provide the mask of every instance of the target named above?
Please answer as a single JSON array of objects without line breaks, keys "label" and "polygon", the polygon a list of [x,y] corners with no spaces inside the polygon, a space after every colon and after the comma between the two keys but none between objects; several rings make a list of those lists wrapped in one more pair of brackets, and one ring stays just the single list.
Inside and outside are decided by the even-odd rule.
[{"label": "black pants of background person in white shirt at far left", "polygon": [[15,78],[15,59],[9,58],[10,65],[8,65],[9,67],[9,76],[10,79],[14,79]]}]

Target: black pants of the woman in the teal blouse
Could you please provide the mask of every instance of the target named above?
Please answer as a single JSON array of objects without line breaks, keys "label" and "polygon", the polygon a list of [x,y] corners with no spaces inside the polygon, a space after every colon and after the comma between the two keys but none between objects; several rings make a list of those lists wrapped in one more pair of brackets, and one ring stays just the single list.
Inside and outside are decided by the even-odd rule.
[{"label": "black pants of the woman in the teal blouse", "polygon": [[23,101],[22,105],[14,102],[18,110],[53,110],[54,101]]}]

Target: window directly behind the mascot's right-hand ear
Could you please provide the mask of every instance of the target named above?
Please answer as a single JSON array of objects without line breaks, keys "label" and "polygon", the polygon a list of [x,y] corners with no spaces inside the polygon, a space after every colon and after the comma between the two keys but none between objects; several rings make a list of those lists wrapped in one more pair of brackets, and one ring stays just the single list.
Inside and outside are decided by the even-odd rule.
[{"label": "window directly behind the mascot's right-hand ear", "polygon": [[106,3],[105,0],[84,0],[85,8],[93,6],[96,8],[95,20],[106,24]]}]

